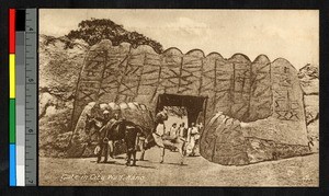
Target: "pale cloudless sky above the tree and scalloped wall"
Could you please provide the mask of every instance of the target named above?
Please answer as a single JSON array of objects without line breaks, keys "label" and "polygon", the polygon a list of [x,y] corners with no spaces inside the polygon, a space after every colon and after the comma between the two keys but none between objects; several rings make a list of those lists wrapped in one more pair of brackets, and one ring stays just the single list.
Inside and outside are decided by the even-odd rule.
[{"label": "pale cloudless sky above the tree and scalloped wall", "polygon": [[127,31],[183,53],[202,49],[224,58],[242,53],[287,59],[296,69],[319,64],[319,12],[316,10],[118,10],[42,9],[39,33],[64,36],[82,20],[110,19]]}]

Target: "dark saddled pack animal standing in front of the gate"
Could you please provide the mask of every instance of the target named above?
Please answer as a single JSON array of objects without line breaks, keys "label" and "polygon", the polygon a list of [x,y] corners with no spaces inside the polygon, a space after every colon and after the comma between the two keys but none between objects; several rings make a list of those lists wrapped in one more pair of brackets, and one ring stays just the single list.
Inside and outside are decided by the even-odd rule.
[{"label": "dark saddled pack animal standing in front of the gate", "polygon": [[[127,147],[126,165],[136,165],[136,143],[138,143],[138,136],[144,134],[144,128],[126,119],[110,120],[104,123],[104,120],[101,118],[92,118],[87,115],[86,128],[91,129],[92,127],[94,127],[95,131],[99,132],[99,149],[95,150],[98,163],[102,159],[103,151],[105,151],[104,162],[107,162],[110,141],[124,140]],[[113,154],[110,153],[110,157],[113,158]],[[133,164],[131,164],[132,157]]]}]

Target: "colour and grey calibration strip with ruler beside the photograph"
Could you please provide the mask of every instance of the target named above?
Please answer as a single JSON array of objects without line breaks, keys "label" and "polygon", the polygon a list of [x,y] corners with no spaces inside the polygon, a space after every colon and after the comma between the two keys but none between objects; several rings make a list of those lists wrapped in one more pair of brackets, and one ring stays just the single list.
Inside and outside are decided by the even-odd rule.
[{"label": "colour and grey calibration strip with ruler beside the photograph", "polygon": [[9,10],[10,186],[37,184],[37,10]]}]

